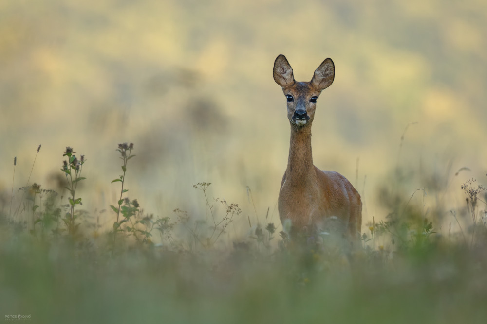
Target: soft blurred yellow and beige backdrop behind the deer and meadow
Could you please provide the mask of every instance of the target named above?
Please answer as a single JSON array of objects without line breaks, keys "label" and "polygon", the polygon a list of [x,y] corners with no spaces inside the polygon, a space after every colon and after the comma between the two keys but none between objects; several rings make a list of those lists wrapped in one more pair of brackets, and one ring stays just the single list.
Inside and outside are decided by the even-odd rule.
[{"label": "soft blurred yellow and beige backdrop behind the deer and meadow", "polygon": [[399,169],[408,197],[448,188],[448,210],[466,179],[486,180],[486,22],[482,0],[1,1],[0,192],[9,201],[14,156],[26,185],[39,144],[29,185],[62,191],[72,146],[87,159],[83,207],[107,208],[116,146],[133,142],[128,195],[147,212],[205,213],[192,185],[208,181],[210,197],[240,203],[241,225],[268,208],[279,223],[289,123],[272,66],[285,54],[300,81],[335,62],[314,163],[356,186],[364,224],[386,215],[380,192]]}]

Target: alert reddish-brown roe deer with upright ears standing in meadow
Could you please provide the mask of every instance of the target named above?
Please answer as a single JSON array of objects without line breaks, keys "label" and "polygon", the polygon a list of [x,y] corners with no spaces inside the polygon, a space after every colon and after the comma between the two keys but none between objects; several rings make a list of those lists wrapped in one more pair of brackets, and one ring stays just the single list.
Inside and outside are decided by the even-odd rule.
[{"label": "alert reddish-brown roe deer with upright ears standing in meadow", "polygon": [[297,82],[286,57],[279,55],[273,75],[287,98],[287,118],[291,124],[289,159],[279,192],[281,222],[284,225],[286,220],[291,221],[291,236],[315,229],[345,236],[354,244],[362,226],[360,195],[341,174],[315,167],[311,153],[316,101],[321,91],[333,83],[333,61],[324,60],[311,82]]}]

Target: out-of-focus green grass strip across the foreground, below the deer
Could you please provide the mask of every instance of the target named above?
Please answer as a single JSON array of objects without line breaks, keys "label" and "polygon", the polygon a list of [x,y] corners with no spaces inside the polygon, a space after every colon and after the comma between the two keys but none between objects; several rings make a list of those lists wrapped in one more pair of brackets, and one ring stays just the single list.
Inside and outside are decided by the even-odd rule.
[{"label": "out-of-focus green grass strip across the foreground, below the deer", "polygon": [[[352,264],[256,251],[2,242],[2,316],[33,323],[485,323],[485,246]],[[305,277],[303,278],[303,276]]]}]

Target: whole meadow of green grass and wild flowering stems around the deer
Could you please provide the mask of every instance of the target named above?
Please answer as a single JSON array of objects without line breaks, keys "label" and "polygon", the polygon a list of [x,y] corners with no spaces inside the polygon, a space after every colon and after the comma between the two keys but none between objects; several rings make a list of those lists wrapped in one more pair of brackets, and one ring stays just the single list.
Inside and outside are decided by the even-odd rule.
[{"label": "whole meadow of green grass and wild flowering stems around the deer", "polygon": [[118,146],[123,175],[113,182],[122,187],[111,206],[110,229],[82,222],[86,212],[75,188],[85,159],[77,159],[72,148],[64,152],[68,160],[61,168],[69,197],[33,184],[17,193],[24,206],[18,213],[10,215],[12,199],[1,206],[5,321],[487,321],[487,207],[484,187],[473,179],[458,188],[467,202],[458,217],[467,212],[471,219],[462,219],[468,228],[460,233],[440,235],[438,217],[412,203],[424,189],[411,196],[384,191],[389,215],[364,224],[362,248],[344,251],[326,237],[291,242],[275,233],[273,223],[228,239],[222,234],[242,211],[238,204],[212,201],[206,182],[191,192],[205,197],[203,219],[178,208],[171,216],[145,214],[136,199],[124,197],[132,149],[133,144]]}]

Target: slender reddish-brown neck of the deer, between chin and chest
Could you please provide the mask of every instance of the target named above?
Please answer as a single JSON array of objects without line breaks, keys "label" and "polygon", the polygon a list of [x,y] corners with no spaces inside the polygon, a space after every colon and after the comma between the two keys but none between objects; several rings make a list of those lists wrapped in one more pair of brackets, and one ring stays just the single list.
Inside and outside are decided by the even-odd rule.
[{"label": "slender reddish-brown neck of the deer, between chin and chest", "polygon": [[298,128],[291,125],[286,179],[301,186],[308,185],[310,181],[316,181],[311,153],[311,124]]}]

